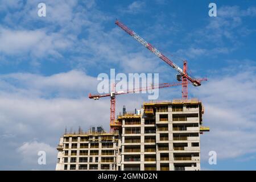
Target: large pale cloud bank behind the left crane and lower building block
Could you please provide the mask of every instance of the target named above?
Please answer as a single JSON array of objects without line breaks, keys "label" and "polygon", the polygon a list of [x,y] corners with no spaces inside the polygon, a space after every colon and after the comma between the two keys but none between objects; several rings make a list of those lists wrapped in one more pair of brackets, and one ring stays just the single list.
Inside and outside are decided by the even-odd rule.
[{"label": "large pale cloud bank behind the left crane and lower building block", "polygon": [[[79,126],[87,131],[89,126],[101,125],[109,131],[110,100],[88,98],[88,93],[96,90],[93,80],[80,71],[52,76],[2,75],[0,133],[5,142],[0,151],[0,168],[53,170],[57,158],[55,147],[66,126],[68,131],[71,128],[75,131]],[[76,98],[70,97],[73,95]],[[123,103],[127,110],[133,111],[134,105],[139,108],[142,102],[141,97],[134,94],[119,96],[116,114],[122,110]],[[37,164],[39,150],[46,151],[49,156],[46,166]],[[18,151],[18,155],[13,151]]]}]

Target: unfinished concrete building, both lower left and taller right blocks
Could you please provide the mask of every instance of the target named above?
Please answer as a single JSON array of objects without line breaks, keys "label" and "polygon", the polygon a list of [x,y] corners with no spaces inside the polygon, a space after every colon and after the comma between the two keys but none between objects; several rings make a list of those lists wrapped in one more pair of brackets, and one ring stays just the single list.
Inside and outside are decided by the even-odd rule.
[{"label": "unfinished concrete building, both lower left and taller right blocks", "polygon": [[[197,100],[144,103],[139,114],[126,113],[118,116],[117,122],[122,123],[118,134],[87,134],[89,139],[94,140],[88,139],[86,142],[81,142],[84,135],[64,135],[57,147],[61,149],[56,169],[200,170],[200,133],[208,131],[201,127],[203,112],[203,106]],[[105,135],[111,136],[108,142],[102,140]],[[79,162],[79,150],[84,150],[80,147],[81,143],[88,144],[86,163]],[[98,143],[97,149],[91,147],[95,147],[95,143]],[[113,150],[113,155],[102,155],[104,143],[112,143],[113,147],[108,150]],[[75,150],[72,146],[77,147],[76,155],[75,152],[72,153]],[[104,157],[111,157],[111,160]],[[76,158],[76,163],[71,158]],[[82,168],[81,164],[86,164],[86,168]]]}]

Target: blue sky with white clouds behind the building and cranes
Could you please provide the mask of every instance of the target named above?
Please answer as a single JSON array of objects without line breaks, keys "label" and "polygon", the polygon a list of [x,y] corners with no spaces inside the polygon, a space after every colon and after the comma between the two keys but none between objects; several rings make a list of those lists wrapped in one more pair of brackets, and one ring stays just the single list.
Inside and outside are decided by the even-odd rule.
[{"label": "blue sky with white clouds behind the building and cranes", "polygon": [[[47,16],[39,17],[38,3]],[[217,17],[208,16],[210,2]],[[256,3],[254,1],[1,1],[0,169],[55,169],[65,126],[109,128],[109,99],[89,100],[97,75],[176,72],[115,26],[121,20],[195,77],[208,77],[189,97],[205,106],[201,169],[256,169]],[[159,100],[181,97],[160,90]],[[117,98],[117,110],[139,108],[146,95]],[[100,113],[100,114],[99,114]],[[37,152],[47,152],[47,165]],[[208,152],[217,152],[217,165]]]}]

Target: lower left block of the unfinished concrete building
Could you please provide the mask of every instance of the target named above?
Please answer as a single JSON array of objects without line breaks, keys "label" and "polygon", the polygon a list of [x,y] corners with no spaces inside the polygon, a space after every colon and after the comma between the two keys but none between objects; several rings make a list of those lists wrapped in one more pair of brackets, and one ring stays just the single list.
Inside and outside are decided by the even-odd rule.
[{"label": "lower left block of the unfinished concrete building", "polygon": [[104,131],[64,134],[57,146],[56,170],[118,170],[121,162],[118,136]]}]

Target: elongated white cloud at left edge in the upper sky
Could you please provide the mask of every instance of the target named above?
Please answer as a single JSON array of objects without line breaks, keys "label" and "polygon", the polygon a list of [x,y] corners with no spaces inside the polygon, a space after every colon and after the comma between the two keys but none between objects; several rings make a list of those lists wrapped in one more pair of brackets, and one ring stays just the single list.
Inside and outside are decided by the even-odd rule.
[{"label": "elongated white cloud at left edge in the upper sky", "polygon": [[0,52],[9,55],[28,53],[33,57],[60,56],[72,45],[72,40],[59,34],[47,34],[44,30],[10,30],[0,28]]}]

